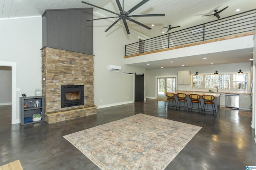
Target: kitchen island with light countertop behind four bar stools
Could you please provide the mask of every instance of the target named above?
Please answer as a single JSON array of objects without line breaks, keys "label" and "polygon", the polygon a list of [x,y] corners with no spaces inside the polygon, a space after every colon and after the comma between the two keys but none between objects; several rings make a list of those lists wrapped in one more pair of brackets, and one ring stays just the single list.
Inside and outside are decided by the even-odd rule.
[{"label": "kitchen island with light countertop behind four bar stools", "polygon": [[[217,92],[193,92],[193,91],[175,91],[174,92],[174,98],[176,99],[176,103],[178,104],[178,97],[177,97],[177,93],[184,93],[186,94],[186,100],[188,101],[188,107],[190,106],[190,102],[191,102],[191,99],[189,97],[190,94],[198,94],[200,95],[200,101],[201,101],[201,105],[203,107],[204,105],[204,99],[202,98],[202,96],[205,94],[205,95],[212,95],[215,97],[215,99],[213,100],[213,102],[215,103],[215,109],[216,109],[216,113],[218,114],[220,112],[220,95],[221,93],[217,93]],[[184,108],[184,102],[181,102],[180,103],[180,109],[183,109],[185,110]],[[195,112],[199,112],[198,111],[198,105],[197,104],[193,104],[193,109],[192,111],[195,111]],[[205,113],[208,113],[208,114],[213,114],[213,111],[212,111],[212,106],[210,104],[206,104],[206,110],[205,110]]]}]

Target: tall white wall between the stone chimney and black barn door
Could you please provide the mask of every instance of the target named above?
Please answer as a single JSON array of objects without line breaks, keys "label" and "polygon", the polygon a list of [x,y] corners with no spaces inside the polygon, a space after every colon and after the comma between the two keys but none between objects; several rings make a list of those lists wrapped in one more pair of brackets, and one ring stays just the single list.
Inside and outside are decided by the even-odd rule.
[{"label": "tall white wall between the stone chimney and black barn door", "polygon": [[[94,21],[94,104],[98,108],[134,102],[134,75],[123,72],[146,73],[145,68],[123,64],[124,47],[138,41],[138,34],[130,29],[127,35],[120,24],[105,32],[113,22],[108,19]],[[122,70],[110,71],[108,65],[121,66]]]}]

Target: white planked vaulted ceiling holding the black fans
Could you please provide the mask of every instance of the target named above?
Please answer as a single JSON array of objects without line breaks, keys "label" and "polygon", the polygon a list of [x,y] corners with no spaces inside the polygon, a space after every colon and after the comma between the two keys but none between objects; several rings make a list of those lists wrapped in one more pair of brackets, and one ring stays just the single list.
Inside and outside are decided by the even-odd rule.
[{"label": "white planked vaulted ceiling holding the black fans", "polygon": [[[119,13],[115,0],[84,1]],[[142,0],[120,0],[120,3],[122,6],[124,6],[124,10],[128,11],[130,10],[130,8],[132,8],[141,1]],[[187,27],[199,25],[201,23],[217,20],[217,18],[214,16],[202,17],[202,15],[214,14],[214,10],[221,10],[226,6],[229,7],[220,13],[221,18],[255,9],[256,0],[150,0],[144,5],[140,6],[140,8],[138,8],[131,14],[165,14],[165,16],[133,18],[134,20],[151,27],[151,30],[148,30],[130,21],[128,21],[127,23],[129,29],[137,31],[142,35],[151,38],[162,35],[163,31],[166,33],[167,29],[163,28],[162,26],[180,26],[171,30],[178,31],[179,29],[185,29]],[[0,0],[0,19],[41,16],[45,10],[66,8],[92,8],[92,6],[81,3],[81,0]],[[236,9],[240,9],[240,11],[236,12]],[[114,16],[114,14],[98,8],[94,8],[94,12],[98,12],[102,14],[102,16],[106,17]],[[114,18],[113,22],[115,20],[116,19]],[[94,22],[100,21],[101,20],[96,20]],[[122,24],[121,21],[119,21],[119,23]],[[151,26],[152,24],[154,24],[154,27]],[[106,25],[106,27],[102,27],[102,31],[105,31],[107,28],[108,25]],[[110,29],[109,31],[114,31],[114,29]],[[171,31],[169,31],[168,33],[170,33]],[[252,57],[251,52],[247,53],[248,54],[246,55],[248,56],[243,58],[248,59],[249,55],[250,58]],[[226,55],[228,58],[228,54]],[[234,58],[234,55],[232,56],[232,58]],[[246,59],[240,62],[246,62]],[[234,63],[238,63],[237,61],[238,60],[236,59]],[[195,62],[195,60],[193,62]],[[231,63],[232,61],[229,60],[228,62]],[[157,64],[158,66],[164,63],[166,63],[166,61],[163,61],[162,63],[155,62],[155,64]],[[225,62],[223,61],[222,63]],[[198,61],[196,61],[196,63],[191,64],[202,65],[204,63],[199,63]]]}]

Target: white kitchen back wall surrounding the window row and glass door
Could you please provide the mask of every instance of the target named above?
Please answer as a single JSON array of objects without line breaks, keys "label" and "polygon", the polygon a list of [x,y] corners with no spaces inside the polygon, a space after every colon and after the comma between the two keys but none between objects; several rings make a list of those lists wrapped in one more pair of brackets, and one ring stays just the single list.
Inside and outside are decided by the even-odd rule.
[{"label": "white kitchen back wall surrounding the window row and glass door", "polygon": [[[236,73],[241,68],[243,72],[250,72],[252,62],[232,63],[232,64],[214,64],[207,66],[192,66],[192,67],[178,67],[166,68],[157,70],[146,70],[146,98],[156,98],[156,76],[178,75],[180,70],[190,70],[191,74],[198,71],[199,74],[213,74],[218,70],[219,74]],[[250,77],[250,76],[249,76]],[[195,90],[192,85],[178,85],[176,90]],[[221,90],[219,90],[221,91]],[[250,89],[248,89],[250,91]]]}]

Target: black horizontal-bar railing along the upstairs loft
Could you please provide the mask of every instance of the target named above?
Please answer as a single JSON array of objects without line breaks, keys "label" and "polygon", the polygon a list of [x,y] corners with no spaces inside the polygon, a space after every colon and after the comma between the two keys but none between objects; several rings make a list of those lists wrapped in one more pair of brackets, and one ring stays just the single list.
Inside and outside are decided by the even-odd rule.
[{"label": "black horizontal-bar railing along the upstairs loft", "polygon": [[256,9],[126,45],[125,56],[249,33],[255,28]]}]

